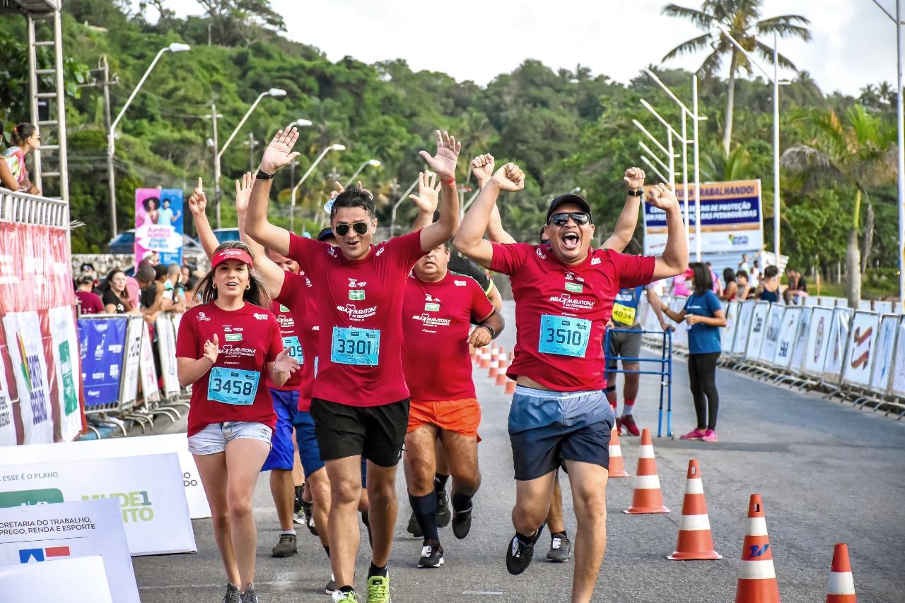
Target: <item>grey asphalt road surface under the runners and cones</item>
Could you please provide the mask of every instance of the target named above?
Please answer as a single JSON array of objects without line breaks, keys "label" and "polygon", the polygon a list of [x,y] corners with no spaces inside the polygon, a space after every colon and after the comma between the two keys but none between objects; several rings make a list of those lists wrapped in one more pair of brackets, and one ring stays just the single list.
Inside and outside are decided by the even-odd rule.
[{"label": "grey asphalt road surface under the runners and cones", "polygon": [[[511,303],[508,329],[500,343],[511,349],[515,326]],[[717,444],[654,438],[665,503],[672,513],[626,515],[633,478],[611,479],[607,488],[608,544],[594,601],[714,602],[734,599],[748,496],[763,495],[776,576],[783,601],[824,600],[834,542],[847,542],[854,585],[861,603],[905,601],[905,420],[822,400],[758,382],[734,372],[718,375],[721,408]],[[421,541],[405,532],[409,508],[400,466],[400,501],[390,560],[395,601],[538,601],[569,599],[572,563],[543,561],[548,534],[535,549],[524,574],[510,576],[505,551],[512,535],[515,499],[512,457],[506,433],[510,397],[493,385],[486,370],[474,380],[483,408],[481,491],[475,499],[472,532],[458,541],[441,532],[446,564],[439,570],[416,568]],[[643,376],[636,404],[639,425],[655,433],[658,380]],[[621,398],[621,388],[620,388]],[[621,408],[621,406],[620,406]],[[673,429],[694,427],[694,410],[685,364],[674,363]],[[185,430],[184,420],[170,429]],[[624,436],[625,466],[634,474],[639,438]],[[700,461],[710,526],[721,561],[667,561],[676,544],[685,474],[690,458]],[[567,530],[575,516],[564,485]],[[268,478],[255,493],[258,525],[257,585],[270,603],[329,601],[323,586],[329,563],[319,541],[299,531],[299,554],[271,558],[279,524]],[[145,603],[220,601],[224,572],[210,520],[195,520],[198,553],[133,559]],[[357,565],[363,591],[367,534]]]}]

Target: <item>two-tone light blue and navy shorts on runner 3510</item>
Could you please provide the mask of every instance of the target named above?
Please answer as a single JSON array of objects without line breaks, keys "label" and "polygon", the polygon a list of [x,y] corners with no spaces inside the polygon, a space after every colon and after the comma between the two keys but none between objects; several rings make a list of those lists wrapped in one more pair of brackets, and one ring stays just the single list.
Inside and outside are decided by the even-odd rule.
[{"label": "two-tone light blue and navy shorts on runner 3510", "polygon": [[546,476],[565,461],[610,466],[615,416],[603,391],[544,391],[519,385],[509,433],[515,478]]}]

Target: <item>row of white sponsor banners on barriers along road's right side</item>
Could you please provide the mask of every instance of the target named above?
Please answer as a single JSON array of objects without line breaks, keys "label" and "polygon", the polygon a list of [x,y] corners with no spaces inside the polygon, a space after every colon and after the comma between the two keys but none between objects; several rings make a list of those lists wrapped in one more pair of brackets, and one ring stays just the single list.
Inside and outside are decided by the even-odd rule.
[{"label": "row of white sponsor banners on barriers along road's right side", "polygon": [[[686,297],[664,298],[679,311]],[[826,398],[905,415],[905,316],[899,303],[863,300],[857,309],[838,297],[807,297],[803,306],[757,299],[723,302],[719,363],[776,384],[823,391]],[[659,323],[651,306],[642,308],[645,330]],[[661,338],[645,335],[659,347]],[[677,325],[677,355],[688,353],[688,330]]]}]

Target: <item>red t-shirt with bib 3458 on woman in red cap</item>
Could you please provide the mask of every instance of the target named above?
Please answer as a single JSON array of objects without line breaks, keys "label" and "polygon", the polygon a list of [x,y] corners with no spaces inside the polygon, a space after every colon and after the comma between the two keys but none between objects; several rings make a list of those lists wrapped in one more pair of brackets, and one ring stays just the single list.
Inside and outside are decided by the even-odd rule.
[{"label": "red t-shirt with bib 3458 on woman in red cap", "polygon": [[179,323],[176,357],[201,358],[205,341],[214,341],[214,334],[219,339],[220,355],[192,385],[188,435],[224,421],[255,421],[272,429],[276,414],[262,373],[266,372],[264,363],[272,363],[283,349],[276,316],[247,303],[232,311],[213,302],[195,306]]}]

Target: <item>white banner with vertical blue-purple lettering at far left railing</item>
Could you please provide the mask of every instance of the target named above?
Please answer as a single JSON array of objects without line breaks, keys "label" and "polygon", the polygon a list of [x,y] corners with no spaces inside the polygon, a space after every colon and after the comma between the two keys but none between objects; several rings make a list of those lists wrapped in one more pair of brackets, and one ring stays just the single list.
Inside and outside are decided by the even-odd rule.
[{"label": "white banner with vertical blue-purple lettering at far left railing", "polygon": [[3,317],[3,325],[19,394],[24,444],[52,442],[51,393],[38,313],[11,312]]}]

